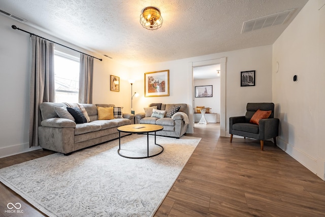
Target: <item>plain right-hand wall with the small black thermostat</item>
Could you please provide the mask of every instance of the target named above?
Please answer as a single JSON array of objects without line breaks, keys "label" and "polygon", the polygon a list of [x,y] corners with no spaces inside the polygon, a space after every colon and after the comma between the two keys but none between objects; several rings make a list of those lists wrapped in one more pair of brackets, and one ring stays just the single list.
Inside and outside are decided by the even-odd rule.
[{"label": "plain right-hand wall with the small black thermostat", "polygon": [[309,1],[273,44],[272,92],[279,146],[325,180],[325,7],[318,2]]}]

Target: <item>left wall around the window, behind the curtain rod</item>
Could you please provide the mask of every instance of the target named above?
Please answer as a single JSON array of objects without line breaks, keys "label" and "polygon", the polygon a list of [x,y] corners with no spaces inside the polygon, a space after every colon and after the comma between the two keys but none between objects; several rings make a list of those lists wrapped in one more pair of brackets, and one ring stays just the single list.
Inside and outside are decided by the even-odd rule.
[{"label": "left wall around the window, behind the curtain rod", "polygon": [[[94,55],[84,49],[51,37],[37,29],[0,15],[0,158],[38,149],[29,148],[29,34],[12,29],[11,25],[48,38],[76,50]],[[104,56],[94,59],[93,103],[124,103],[130,87],[125,83],[128,69]],[[110,74],[121,78],[120,92],[110,91]],[[128,95],[127,95],[128,96]]]}]

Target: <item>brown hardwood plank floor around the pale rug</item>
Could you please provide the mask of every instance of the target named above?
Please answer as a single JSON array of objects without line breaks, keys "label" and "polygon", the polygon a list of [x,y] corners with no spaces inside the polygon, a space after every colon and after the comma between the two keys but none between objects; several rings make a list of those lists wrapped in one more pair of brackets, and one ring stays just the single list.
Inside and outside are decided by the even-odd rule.
[{"label": "brown hardwood plank floor around the pale rug", "polygon": [[[325,216],[325,181],[273,142],[219,137],[219,125],[197,125],[201,137],[154,216]],[[36,150],[0,159],[0,168],[40,158]],[[21,203],[23,214],[4,213]],[[0,216],[43,216],[0,183]]]}]

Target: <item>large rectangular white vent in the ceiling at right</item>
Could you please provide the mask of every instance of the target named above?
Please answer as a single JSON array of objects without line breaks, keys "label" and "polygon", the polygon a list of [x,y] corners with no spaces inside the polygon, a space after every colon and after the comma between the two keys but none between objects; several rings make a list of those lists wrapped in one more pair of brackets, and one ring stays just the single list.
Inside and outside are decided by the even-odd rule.
[{"label": "large rectangular white vent in the ceiling at right", "polygon": [[275,25],[281,25],[295,9],[283,11],[277,14],[271,14],[265,17],[245,21],[242,28],[242,34],[253,30],[267,28]]}]

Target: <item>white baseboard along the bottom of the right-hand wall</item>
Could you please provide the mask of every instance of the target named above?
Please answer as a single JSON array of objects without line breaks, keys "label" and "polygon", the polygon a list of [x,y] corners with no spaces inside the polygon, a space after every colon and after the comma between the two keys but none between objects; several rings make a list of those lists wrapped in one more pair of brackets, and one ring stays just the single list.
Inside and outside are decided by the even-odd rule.
[{"label": "white baseboard along the bottom of the right-hand wall", "polygon": [[[296,159],[304,167],[316,174],[319,178],[324,180],[324,162],[321,159],[314,159],[304,151],[296,148],[295,146],[285,142],[277,137],[277,145],[284,150],[289,156]],[[318,161],[318,162],[317,162]]]}]

